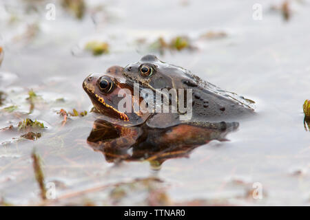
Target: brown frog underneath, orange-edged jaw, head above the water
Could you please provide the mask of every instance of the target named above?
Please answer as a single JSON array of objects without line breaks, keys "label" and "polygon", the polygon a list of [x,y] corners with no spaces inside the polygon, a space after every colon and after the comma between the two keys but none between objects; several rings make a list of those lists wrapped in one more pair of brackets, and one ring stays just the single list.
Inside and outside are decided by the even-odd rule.
[{"label": "brown frog underneath, orange-edged jaw, head above the water", "polygon": [[[152,112],[142,111],[143,109],[140,108],[138,111],[134,111],[135,103],[141,107],[145,106],[145,104],[143,105],[142,97],[134,97],[133,87],[125,83],[122,71],[123,67],[114,66],[107,69],[106,74],[103,76],[96,76],[94,74],[87,76],[83,81],[83,89],[90,97],[92,104],[94,104],[94,111],[96,113],[101,113],[129,124],[140,124],[145,122],[152,115]],[[125,112],[118,109],[119,102],[124,100],[124,98],[131,100],[130,107],[129,109],[127,107]]]}]

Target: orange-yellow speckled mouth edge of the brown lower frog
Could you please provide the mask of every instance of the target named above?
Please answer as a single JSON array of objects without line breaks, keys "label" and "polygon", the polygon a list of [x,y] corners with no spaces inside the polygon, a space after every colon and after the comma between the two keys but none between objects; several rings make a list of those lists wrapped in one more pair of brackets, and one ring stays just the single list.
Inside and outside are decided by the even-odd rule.
[{"label": "orange-yellow speckled mouth edge of the brown lower frog", "polygon": [[[121,112],[121,111],[118,111],[117,109],[115,109],[114,107],[112,107],[110,104],[107,104],[105,103],[105,99],[101,96],[99,96],[98,94],[95,94],[95,88],[94,88],[94,85],[92,84],[89,84],[89,83],[86,83],[85,81],[83,82],[83,89],[86,91],[86,93],[88,94],[88,96],[90,96],[90,99],[91,100],[96,100],[96,102],[100,102],[100,104],[103,105],[103,108],[107,108],[108,110],[112,111],[113,113],[115,113],[118,118],[120,118],[121,120],[124,120],[124,121],[129,121],[129,117]],[[101,109],[97,108],[96,105],[94,102],[94,107],[101,113],[105,113],[105,111],[101,111]]]}]

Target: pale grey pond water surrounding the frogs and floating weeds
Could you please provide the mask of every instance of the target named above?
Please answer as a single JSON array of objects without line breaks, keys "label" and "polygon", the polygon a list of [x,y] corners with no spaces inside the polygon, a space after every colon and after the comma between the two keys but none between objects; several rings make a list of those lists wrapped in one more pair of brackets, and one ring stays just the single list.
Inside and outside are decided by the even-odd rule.
[{"label": "pale grey pond water surrounding the frogs and floating weeds", "polygon": [[[51,2],[55,20],[45,17]],[[255,3],[262,5],[261,20],[253,19]],[[14,139],[23,134],[17,129],[0,131],[0,197],[15,205],[45,204],[32,168],[35,148],[45,182],[56,184],[59,197],[47,204],[152,205],[160,194],[165,199],[159,204],[309,206],[310,133],[304,129],[302,104],[310,98],[310,2],[289,1],[288,21],[271,10],[281,4],[87,1],[79,20],[59,1],[0,1],[5,52],[0,91],[7,95],[0,109],[17,105],[11,113],[0,111],[0,128],[16,128],[24,118],[46,126],[34,141]],[[199,37],[207,32],[226,36]],[[196,50],[150,51],[147,43],[160,36],[188,36]],[[94,39],[109,43],[110,53],[92,56],[81,49]],[[70,117],[63,124],[57,111],[90,111],[82,89],[86,76],[149,53],[255,100],[256,114],[240,120],[229,141],[211,141],[159,168],[146,161],[107,162],[86,142],[96,114]],[[40,98],[28,114],[30,89]],[[252,197],[257,186],[259,199]]]}]

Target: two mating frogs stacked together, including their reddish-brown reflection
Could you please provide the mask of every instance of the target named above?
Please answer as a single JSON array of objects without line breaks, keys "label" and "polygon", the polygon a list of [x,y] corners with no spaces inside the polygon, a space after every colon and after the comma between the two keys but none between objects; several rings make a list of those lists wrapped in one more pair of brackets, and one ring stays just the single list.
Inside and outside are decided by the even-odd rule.
[{"label": "two mating frogs stacked together, including their reddish-brown reflection", "polygon": [[[90,75],[83,89],[97,113],[115,119],[115,123],[94,123],[89,142],[103,152],[132,147],[138,151],[156,148],[158,153],[162,148],[192,148],[224,140],[228,131],[238,127],[238,118],[254,112],[253,101],[154,55],[126,67],[110,67],[102,76]],[[101,137],[99,127],[104,131]]]}]

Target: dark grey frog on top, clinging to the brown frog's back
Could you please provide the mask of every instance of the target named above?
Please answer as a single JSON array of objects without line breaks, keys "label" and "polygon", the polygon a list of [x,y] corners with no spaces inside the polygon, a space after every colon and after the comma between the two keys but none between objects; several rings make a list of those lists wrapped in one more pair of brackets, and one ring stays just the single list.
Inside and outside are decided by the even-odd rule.
[{"label": "dark grey frog on top, clinging to the brown frog's back", "polygon": [[[167,94],[163,89],[191,89],[193,121],[236,120],[241,115],[254,112],[253,101],[220,89],[182,67],[159,61],[154,55],[143,56],[138,63],[127,65],[123,69],[123,76],[129,85],[138,83],[140,89],[151,89],[154,93],[158,91],[167,98],[169,96],[170,103],[175,99],[178,106],[180,94]],[[182,100],[186,102],[186,98]]]}]

